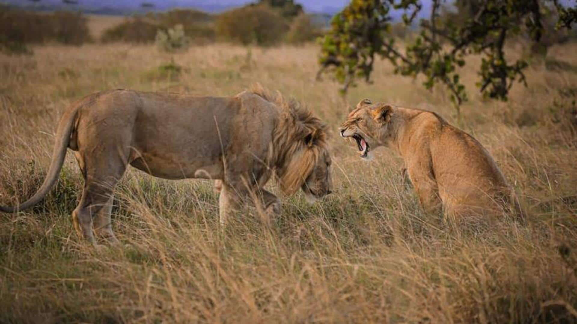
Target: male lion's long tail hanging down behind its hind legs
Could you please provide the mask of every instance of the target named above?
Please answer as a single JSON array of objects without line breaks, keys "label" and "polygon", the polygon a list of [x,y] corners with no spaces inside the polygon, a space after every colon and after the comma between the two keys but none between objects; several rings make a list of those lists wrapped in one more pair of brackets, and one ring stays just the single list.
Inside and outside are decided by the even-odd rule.
[{"label": "male lion's long tail hanging down behind its hind legs", "polygon": [[50,190],[58,179],[60,174],[60,169],[64,163],[64,158],[66,157],[66,149],[68,149],[68,144],[70,141],[70,134],[72,134],[74,121],[76,120],[77,109],[69,110],[60,119],[58,123],[58,129],[56,131],[56,141],[54,144],[54,152],[52,154],[52,161],[50,162],[50,168],[48,168],[48,174],[44,178],[44,183],[36,193],[27,201],[14,207],[0,206],[0,211],[5,213],[13,213],[18,210],[27,209],[35,204],[37,204]]}]

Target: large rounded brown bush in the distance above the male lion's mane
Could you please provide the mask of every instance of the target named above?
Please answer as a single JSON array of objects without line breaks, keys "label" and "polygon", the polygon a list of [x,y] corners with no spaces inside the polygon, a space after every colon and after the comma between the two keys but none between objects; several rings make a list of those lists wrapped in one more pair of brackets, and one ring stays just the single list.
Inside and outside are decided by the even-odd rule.
[{"label": "large rounded brown bush in the distance above the male lion's mane", "polygon": [[283,39],[288,22],[267,5],[245,6],[220,14],[216,20],[219,37],[242,44],[271,45]]}]

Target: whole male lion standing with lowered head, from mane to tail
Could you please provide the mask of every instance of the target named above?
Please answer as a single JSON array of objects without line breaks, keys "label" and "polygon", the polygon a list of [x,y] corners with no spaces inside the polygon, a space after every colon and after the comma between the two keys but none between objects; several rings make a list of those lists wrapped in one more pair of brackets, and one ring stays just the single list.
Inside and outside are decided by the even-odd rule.
[{"label": "whole male lion standing with lowered head, from mane to tail", "polygon": [[272,175],[286,194],[299,187],[315,198],[331,192],[325,137],[324,123],[299,103],[261,88],[230,97],[99,92],[63,114],[38,192],[0,210],[24,210],[39,202],[57,180],[70,148],[85,181],[73,223],[78,235],[93,244],[93,228],[117,242],[110,210],[114,186],[128,164],[159,178],[218,179],[221,223],[242,202],[256,200],[274,213],[279,200],[263,189]]}]

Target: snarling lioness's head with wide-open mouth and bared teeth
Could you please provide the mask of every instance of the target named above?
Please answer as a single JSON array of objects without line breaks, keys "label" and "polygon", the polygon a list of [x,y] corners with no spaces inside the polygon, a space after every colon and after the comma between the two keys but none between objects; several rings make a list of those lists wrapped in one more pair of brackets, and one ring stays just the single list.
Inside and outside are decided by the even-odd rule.
[{"label": "snarling lioness's head with wide-open mouth and bared teeth", "polygon": [[340,126],[339,133],[342,137],[353,138],[361,157],[370,158],[371,149],[387,146],[394,135],[391,127],[394,109],[388,104],[373,104],[369,99],[363,99]]}]

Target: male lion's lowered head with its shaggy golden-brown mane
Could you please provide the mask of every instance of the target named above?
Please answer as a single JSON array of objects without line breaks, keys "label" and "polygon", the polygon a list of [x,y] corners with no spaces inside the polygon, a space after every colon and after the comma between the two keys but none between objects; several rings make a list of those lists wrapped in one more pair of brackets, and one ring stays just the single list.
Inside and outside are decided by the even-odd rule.
[{"label": "male lion's lowered head with its shaggy golden-brown mane", "polygon": [[269,93],[260,86],[252,92],[279,107],[272,159],[282,191],[290,195],[301,188],[313,201],[331,193],[327,126],[298,101],[285,100],[279,93]]}]

